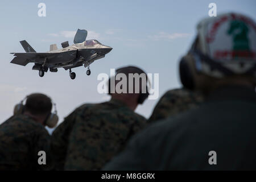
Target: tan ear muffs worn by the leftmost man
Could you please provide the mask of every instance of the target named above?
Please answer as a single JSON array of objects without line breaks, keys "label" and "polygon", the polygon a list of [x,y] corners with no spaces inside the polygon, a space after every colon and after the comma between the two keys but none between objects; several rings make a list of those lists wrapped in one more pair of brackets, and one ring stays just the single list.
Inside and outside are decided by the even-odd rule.
[{"label": "tan ear muffs worn by the leftmost man", "polygon": [[[19,102],[19,104],[16,104],[14,106],[14,115],[18,115],[18,114],[23,114],[24,112],[24,105],[23,102],[24,100],[26,100],[27,97],[25,97],[22,101]],[[57,109],[56,109],[56,104],[52,103],[53,107],[54,107],[54,111],[53,113],[49,113],[48,116],[46,117],[45,121],[44,121],[44,125],[48,126],[49,128],[53,128],[57,125],[58,121],[59,121],[59,117],[57,115]]]}]

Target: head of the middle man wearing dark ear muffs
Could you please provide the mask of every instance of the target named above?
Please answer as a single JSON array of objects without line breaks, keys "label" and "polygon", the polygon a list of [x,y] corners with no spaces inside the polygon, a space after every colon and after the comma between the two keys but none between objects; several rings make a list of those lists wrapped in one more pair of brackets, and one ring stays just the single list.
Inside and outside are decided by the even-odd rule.
[{"label": "head of the middle man wearing dark ear muffs", "polygon": [[[134,66],[116,69],[114,77],[109,79],[109,94],[119,94],[124,97],[138,95],[138,104],[142,104],[148,97],[149,83],[147,74],[141,68]],[[150,83],[149,83],[150,84]]]}]

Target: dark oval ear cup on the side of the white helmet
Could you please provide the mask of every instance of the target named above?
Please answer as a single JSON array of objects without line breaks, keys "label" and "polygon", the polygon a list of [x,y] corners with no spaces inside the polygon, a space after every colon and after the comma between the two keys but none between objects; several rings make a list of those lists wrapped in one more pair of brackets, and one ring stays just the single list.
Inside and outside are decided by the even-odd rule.
[{"label": "dark oval ear cup on the side of the white helmet", "polygon": [[188,65],[188,61],[182,57],[179,65],[180,81],[185,88],[193,90],[195,87],[191,68]]}]

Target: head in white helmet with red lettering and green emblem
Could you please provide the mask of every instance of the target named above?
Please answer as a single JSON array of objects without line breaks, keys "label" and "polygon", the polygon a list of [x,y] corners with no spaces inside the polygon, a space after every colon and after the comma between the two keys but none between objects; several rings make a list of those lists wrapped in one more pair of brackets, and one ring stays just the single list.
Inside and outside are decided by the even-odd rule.
[{"label": "head in white helmet with red lettering and green emblem", "polygon": [[235,13],[201,20],[195,42],[180,61],[183,85],[204,91],[218,85],[255,85],[255,76],[255,22]]}]

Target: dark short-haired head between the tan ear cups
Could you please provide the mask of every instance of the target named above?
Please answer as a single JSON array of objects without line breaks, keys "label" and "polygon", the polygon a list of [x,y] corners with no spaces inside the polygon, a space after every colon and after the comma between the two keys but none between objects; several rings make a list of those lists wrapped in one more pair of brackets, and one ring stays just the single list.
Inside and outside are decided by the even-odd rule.
[{"label": "dark short-haired head between the tan ear cups", "polygon": [[24,111],[28,111],[33,115],[48,114],[52,110],[51,98],[44,94],[34,93],[27,96],[26,104],[24,105]]}]

